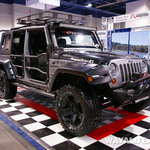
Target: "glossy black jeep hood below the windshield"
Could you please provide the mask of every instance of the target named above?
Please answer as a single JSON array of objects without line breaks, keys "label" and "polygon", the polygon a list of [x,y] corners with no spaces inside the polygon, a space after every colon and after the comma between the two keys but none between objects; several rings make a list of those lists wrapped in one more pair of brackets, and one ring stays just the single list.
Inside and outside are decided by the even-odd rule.
[{"label": "glossy black jeep hood below the windshield", "polygon": [[138,59],[138,57],[103,51],[71,51],[61,55],[75,61],[92,62],[96,64],[109,63],[113,59]]}]

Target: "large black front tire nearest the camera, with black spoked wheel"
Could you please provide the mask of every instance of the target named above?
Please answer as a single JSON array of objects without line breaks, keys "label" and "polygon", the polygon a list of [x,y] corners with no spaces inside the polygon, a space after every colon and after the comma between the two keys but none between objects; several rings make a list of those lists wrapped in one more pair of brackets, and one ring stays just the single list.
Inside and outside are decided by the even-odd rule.
[{"label": "large black front tire nearest the camera, with black spoked wheel", "polygon": [[63,128],[75,136],[94,131],[102,120],[99,100],[91,91],[65,85],[56,97],[56,110]]}]

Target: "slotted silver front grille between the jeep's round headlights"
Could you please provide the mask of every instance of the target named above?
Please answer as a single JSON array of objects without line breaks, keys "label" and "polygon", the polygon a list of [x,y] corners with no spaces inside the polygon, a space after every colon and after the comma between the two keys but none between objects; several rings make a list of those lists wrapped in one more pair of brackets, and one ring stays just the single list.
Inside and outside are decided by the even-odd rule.
[{"label": "slotted silver front grille between the jeep's round headlights", "polygon": [[120,64],[120,71],[122,82],[127,82],[131,80],[133,73],[142,72],[141,63]]}]

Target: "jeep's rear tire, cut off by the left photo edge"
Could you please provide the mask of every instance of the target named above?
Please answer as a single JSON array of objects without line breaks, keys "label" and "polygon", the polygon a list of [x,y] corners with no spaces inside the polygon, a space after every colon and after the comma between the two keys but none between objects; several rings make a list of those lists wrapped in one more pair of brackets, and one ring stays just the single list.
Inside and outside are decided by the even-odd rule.
[{"label": "jeep's rear tire, cut off by the left photo edge", "polygon": [[5,71],[0,70],[0,98],[12,99],[17,93],[17,87],[10,84]]}]

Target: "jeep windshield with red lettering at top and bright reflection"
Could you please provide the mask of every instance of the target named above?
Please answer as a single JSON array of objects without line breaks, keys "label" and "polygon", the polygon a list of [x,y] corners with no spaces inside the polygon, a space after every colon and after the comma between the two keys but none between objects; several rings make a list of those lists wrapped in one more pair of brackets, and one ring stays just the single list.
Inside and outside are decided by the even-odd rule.
[{"label": "jeep windshield with red lettering at top and bright reflection", "polygon": [[94,32],[83,29],[56,28],[59,47],[92,47],[99,48]]}]

